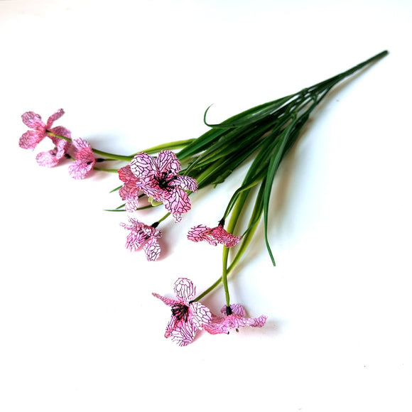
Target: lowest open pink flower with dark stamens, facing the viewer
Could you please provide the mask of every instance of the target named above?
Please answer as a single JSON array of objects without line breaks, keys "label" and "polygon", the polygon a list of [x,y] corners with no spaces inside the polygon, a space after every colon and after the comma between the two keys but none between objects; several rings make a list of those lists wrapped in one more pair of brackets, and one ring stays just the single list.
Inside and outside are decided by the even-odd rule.
[{"label": "lowest open pink flower with dark stamens, facing the viewer", "polygon": [[193,341],[197,329],[205,327],[210,322],[212,315],[205,305],[193,302],[196,288],[189,279],[178,278],[174,290],[177,300],[165,298],[158,293],[153,293],[153,296],[172,308],[172,317],[166,327],[165,337],[171,337],[179,346],[186,346]]}]

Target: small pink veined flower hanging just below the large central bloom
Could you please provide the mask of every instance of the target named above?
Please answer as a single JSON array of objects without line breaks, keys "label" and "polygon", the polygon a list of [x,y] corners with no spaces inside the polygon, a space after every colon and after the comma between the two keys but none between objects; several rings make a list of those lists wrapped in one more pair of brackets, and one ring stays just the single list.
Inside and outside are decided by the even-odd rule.
[{"label": "small pink veined flower hanging just below the large central bloom", "polygon": [[136,251],[143,246],[147,260],[156,261],[161,254],[158,238],[162,236],[160,230],[156,229],[157,223],[148,226],[132,217],[129,217],[129,222],[131,224],[121,223],[122,227],[130,231],[126,239],[126,248]]}]

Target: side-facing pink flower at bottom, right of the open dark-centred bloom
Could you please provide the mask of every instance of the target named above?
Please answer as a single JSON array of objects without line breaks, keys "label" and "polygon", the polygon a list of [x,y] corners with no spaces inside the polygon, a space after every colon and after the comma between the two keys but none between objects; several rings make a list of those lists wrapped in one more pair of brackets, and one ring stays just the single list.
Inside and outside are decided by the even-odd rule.
[{"label": "side-facing pink flower at bottom, right of the open dark-centred bloom", "polygon": [[229,329],[242,326],[262,327],[267,316],[261,315],[259,318],[246,318],[246,313],[242,305],[234,304],[229,307],[224,305],[221,309],[222,317],[212,315],[212,322],[205,325],[205,330],[212,335],[218,333],[229,333]]}]

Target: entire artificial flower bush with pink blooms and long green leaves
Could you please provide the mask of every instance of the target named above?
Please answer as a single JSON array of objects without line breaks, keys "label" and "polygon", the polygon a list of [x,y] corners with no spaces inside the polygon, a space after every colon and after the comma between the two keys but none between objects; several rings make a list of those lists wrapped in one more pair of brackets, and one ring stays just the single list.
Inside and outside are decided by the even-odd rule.
[{"label": "entire artificial flower bush with pink blooms and long green leaves", "polygon": [[[107,153],[93,148],[85,139],[72,139],[71,132],[65,127],[53,126],[64,114],[60,109],[46,123],[39,114],[24,113],[22,120],[29,130],[21,136],[19,145],[34,150],[40,141],[50,139],[50,151],[36,156],[39,165],[53,167],[63,161],[72,161],[68,170],[75,179],[86,178],[94,170],[116,173],[121,185],[114,191],[118,192],[123,203],[113,210],[133,215],[129,215],[129,224],[121,224],[129,232],[126,248],[131,251],[143,249],[148,261],[156,261],[161,256],[158,239],[163,234],[158,227],[165,219],[171,216],[178,224],[192,209],[190,196],[193,193],[224,183],[239,166],[248,164],[242,182],[229,198],[222,215],[216,219],[217,226],[210,227],[200,221],[186,234],[192,242],[223,245],[222,276],[197,297],[195,286],[188,278],[175,281],[175,299],[158,293],[153,293],[153,296],[171,308],[172,316],[165,336],[180,346],[193,342],[197,331],[202,329],[216,335],[244,326],[263,327],[266,316],[247,318],[242,305],[230,302],[227,277],[242,258],[262,216],[266,249],[275,265],[268,239],[269,199],[282,159],[298,139],[315,107],[332,87],[387,53],[381,52],[340,75],[253,107],[220,124],[207,124],[207,109],[204,121],[210,130],[197,139],[164,143],[129,156]],[[100,167],[108,161],[123,164],[116,168]],[[253,207],[246,207],[249,203]],[[166,212],[152,224],[134,217],[143,208],[158,207],[164,207]],[[239,229],[241,221],[248,222],[243,231]],[[234,254],[229,261],[229,248],[232,247],[235,247]],[[221,283],[225,304],[222,315],[218,316],[200,300]]]}]

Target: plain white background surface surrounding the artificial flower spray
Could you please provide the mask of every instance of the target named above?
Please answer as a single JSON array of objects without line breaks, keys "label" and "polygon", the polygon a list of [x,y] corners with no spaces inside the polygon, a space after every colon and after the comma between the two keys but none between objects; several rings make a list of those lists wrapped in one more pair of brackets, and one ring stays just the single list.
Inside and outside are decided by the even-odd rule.
[{"label": "plain white background surface surrounding the artificial flower spray", "polygon": [[[0,410],[411,411],[411,11],[0,1]],[[220,276],[221,249],[185,233],[215,225],[242,170],[164,224],[163,257],[148,263],[124,249],[126,215],[104,212],[121,202],[116,175],[75,181],[18,147],[23,112],[60,107],[57,124],[105,151],[190,139],[210,104],[222,121],[385,49],[325,99],[278,170],[277,266],[259,229],[229,282],[233,303],[269,317],[262,329],[178,347],[151,296],[172,297],[179,276],[198,293]],[[203,303],[217,312],[222,289]]]}]

